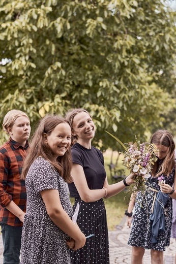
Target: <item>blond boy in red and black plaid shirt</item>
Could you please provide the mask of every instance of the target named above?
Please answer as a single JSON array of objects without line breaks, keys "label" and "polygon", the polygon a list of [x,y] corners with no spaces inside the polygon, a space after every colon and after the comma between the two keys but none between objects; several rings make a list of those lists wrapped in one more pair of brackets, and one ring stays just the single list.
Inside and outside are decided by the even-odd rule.
[{"label": "blond boy in red and black plaid shirt", "polygon": [[0,223],[3,264],[19,264],[22,223],[26,209],[25,182],[20,179],[31,133],[30,119],[20,110],[9,111],[3,128],[10,139],[0,147]]}]

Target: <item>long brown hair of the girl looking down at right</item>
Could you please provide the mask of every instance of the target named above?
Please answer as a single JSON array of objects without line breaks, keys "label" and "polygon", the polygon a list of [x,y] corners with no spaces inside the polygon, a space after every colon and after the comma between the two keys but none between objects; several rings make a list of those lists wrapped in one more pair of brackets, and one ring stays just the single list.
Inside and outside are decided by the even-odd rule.
[{"label": "long brown hair of the girl looking down at right", "polygon": [[151,138],[151,143],[155,145],[163,145],[165,147],[169,147],[169,151],[164,158],[161,168],[157,172],[157,167],[158,167],[158,161],[155,162],[153,170],[152,170],[152,175],[158,177],[161,174],[164,175],[169,175],[175,166],[175,161],[174,161],[174,150],[175,150],[175,144],[173,141],[172,135],[167,131],[167,130],[157,130],[152,138]]}]

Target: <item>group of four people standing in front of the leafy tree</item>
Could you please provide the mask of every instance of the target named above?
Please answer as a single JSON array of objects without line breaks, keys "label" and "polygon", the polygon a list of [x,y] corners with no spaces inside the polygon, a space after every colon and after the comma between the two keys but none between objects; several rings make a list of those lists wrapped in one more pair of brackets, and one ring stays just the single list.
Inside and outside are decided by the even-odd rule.
[{"label": "group of four people standing in front of the leafy tree", "polygon": [[[0,147],[0,223],[4,244],[3,264],[108,264],[109,243],[103,199],[134,183],[135,174],[108,184],[101,151],[91,145],[95,125],[89,112],[76,108],[63,118],[43,117],[31,133],[30,119],[19,110],[4,117],[10,139]],[[159,152],[150,186],[153,195],[136,193],[128,217],[132,263],[142,263],[151,249],[152,263],[163,263],[169,245],[172,199],[176,199],[174,142],[166,130],[154,133],[151,142]],[[30,145],[30,146],[29,146]],[[164,177],[158,185],[158,177]],[[70,196],[75,202],[72,208]],[[165,232],[152,244],[153,196],[161,191],[165,204]],[[139,201],[137,203],[136,201]],[[139,204],[142,203],[142,207]],[[72,221],[79,205],[77,223]],[[20,260],[21,251],[21,260]]]}]

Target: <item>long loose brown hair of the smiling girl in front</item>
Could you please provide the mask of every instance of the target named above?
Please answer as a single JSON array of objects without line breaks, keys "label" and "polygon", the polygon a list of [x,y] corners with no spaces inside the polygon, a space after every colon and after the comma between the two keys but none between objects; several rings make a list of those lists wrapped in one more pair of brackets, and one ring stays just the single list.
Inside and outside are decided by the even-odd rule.
[{"label": "long loose brown hair of the smiling girl in front", "polygon": [[52,150],[44,140],[44,134],[49,136],[54,128],[61,123],[67,123],[70,125],[69,121],[63,117],[50,114],[46,115],[39,121],[38,127],[31,140],[30,149],[28,150],[28,154],[24,159],[21,176],[23,179],[26,178],[27,172],[33,161],[37,157],[42,156],[52,164],[60,176],[63,177],[65,182],[70,183],[73,181],[71,177],[72,158],[70,147],[63,156],[59,156],[56,160],[53,160]]}]

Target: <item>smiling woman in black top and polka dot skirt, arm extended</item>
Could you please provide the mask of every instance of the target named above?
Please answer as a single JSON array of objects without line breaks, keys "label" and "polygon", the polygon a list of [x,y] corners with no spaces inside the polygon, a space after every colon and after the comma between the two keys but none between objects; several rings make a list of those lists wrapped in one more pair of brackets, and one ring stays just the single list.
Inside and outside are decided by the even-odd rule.
[{"label": "smiling woman in black top and polka dot skirt, arm extended", "polygon": [[79,203],[77,223],[84,235],[95,234],[86,239],[83,248],[71,251],[71,260],[73,264],[108,264],[108,229],[102,198],[118,194],[133,183],[133,174],[124,181],[109,185],[103,155],[100,150],[91,146],[95,125],[89,112],[79,108],[70,110],[66,119],[71,124],[73,145],[71,175],[74,182],[69,184],[70,195],[75,198],[73,209]]}]

